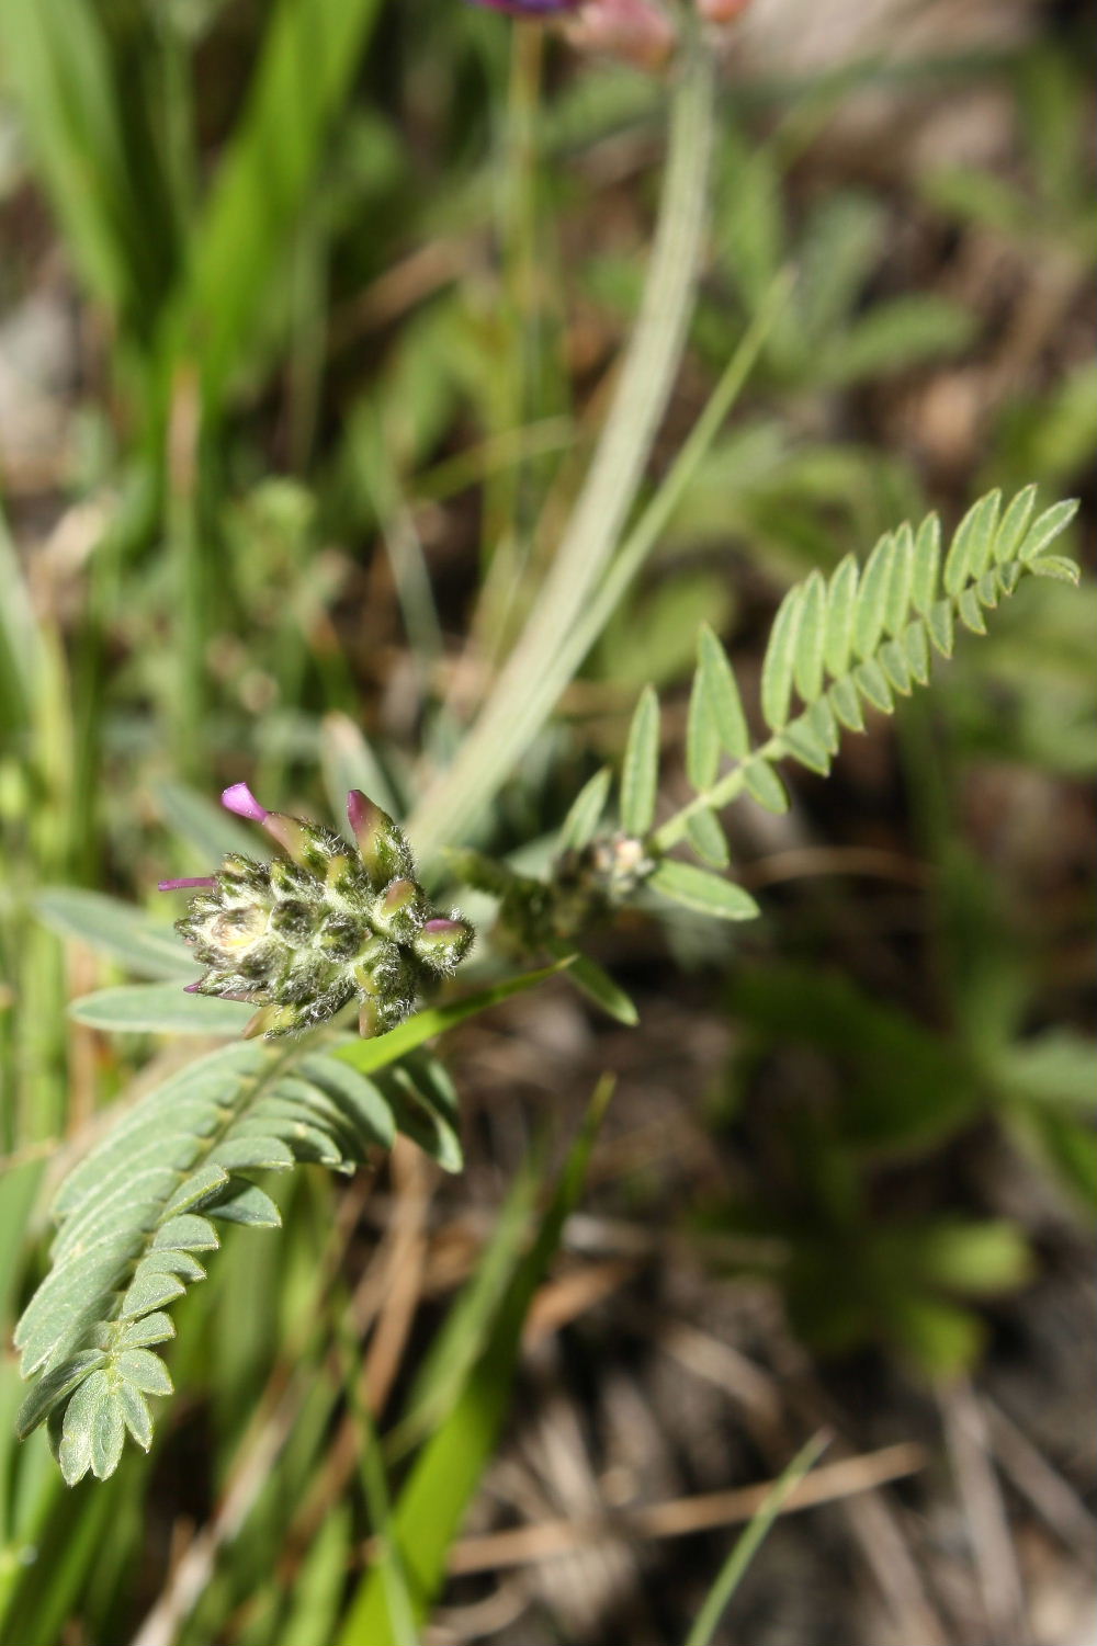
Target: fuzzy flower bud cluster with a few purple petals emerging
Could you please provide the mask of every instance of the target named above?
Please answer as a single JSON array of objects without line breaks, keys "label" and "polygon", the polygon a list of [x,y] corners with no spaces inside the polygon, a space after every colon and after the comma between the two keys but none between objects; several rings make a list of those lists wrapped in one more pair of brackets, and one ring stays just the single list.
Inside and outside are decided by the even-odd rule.
[{"label": "fuzzy flower bud cluster with a few purple petals emerging", "polygon": [[432,909],[407,838],[361,790],[346,807],[357,853],[331,830],[267,811],[245,783],[221,800],[285,856],[229,853],[217,874],[160,890],[194,890],[176,930],[208,969],[189,993],[259,1006],[245,1035],[310,1029],[352,999],[361,1032],[384,1034],[468,953],[471,925]]}]

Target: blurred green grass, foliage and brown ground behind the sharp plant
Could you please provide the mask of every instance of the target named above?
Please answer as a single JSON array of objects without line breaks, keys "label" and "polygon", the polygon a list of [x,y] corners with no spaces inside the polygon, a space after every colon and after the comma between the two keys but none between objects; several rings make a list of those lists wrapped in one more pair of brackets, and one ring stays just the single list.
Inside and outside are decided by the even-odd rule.
[{"label": "blurred green grass, foliage and brown ground behind the sharp plant", "polygon": [[[647,680],[674,762],[702,619],[749,678],[782,589],[899,518],[1034,479],[1081,491],[1087,553],[1082,8],[810,10],[726,36],[654,474],[784,268],[792,295],[496,853],[535,859]],[[7,1337],[59,1167],[178,1057],[66,1019],[127,968],[40,890],[201,872],[201,797],[242,775],[320,816],[348,782],[405,811],[445,765],[590,453],[664,112],[659,77],[450,0],[0,7]],[[0,1638],[405,1646],[451,1559],[440,1646],[677,1641],[726,1529],[476,1565],[466,1503],[483,1536],[585,1523],[773,1475],[825,1420],[929,1467],[782,1523],[728,1639],[1089,1639],[1092,617],[1026,589],[787,815],[736,807],[768,920],[608,933],[637,1030],[563,984],[461,1030],[463,1179],[399,1151],[234,1231],[148,1460],[63,1488],[41,1434],[13,1447],[5,1356]],[[603,1070],[583,1210],[572,1159],[545,1211]],[[367,1542],[392,1516],[423,1572]]]}]

